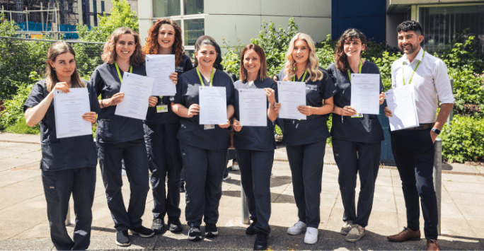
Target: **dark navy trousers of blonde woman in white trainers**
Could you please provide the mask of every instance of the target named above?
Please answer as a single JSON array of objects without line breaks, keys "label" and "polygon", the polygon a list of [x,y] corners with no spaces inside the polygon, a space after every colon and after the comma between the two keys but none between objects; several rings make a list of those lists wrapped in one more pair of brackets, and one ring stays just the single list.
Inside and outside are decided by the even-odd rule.
[{"label": "dark navy trousers of blonde woman in white trainers", "polygon": [[325,140],[286,146],[299,221],[305,222],[311,228],[318,228],[320,221],[319,204],[325,147]]}]

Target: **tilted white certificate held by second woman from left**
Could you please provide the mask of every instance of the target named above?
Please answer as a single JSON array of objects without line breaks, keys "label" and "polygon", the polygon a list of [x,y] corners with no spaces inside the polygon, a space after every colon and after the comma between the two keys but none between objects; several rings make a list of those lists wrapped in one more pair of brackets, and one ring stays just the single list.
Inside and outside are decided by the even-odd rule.
[{"label": "tilted white certificate held by second woman from left", "polygon": [[125,93],[125,98],[116,105],[115,115],[146,119],[153,82],[153,78],[125,72],[120,88],[120,93]]}]

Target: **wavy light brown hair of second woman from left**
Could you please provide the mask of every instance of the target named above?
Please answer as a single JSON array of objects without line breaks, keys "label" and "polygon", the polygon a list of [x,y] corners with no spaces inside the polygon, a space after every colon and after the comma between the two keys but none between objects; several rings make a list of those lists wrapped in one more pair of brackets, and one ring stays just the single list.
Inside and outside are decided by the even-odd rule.
[{"label": "wavy light brown hair of second woman from left", "polygon": [[115,31],[113,31],[113,33],[111,33],[108,42],[104,44],[101,59],[108,64],[114,64],[116,62],[116,42],[120,38],[120,35],[123,34],[133,35],[134,43],[136,44],[136,48],[129,59],[129,64],[132,66],[139,66],[139,64],[144,63],[144,54],[142,52],[141,42],[139,41],[139,35],[134,30],[131,30],[127,27],[117,28]]}]

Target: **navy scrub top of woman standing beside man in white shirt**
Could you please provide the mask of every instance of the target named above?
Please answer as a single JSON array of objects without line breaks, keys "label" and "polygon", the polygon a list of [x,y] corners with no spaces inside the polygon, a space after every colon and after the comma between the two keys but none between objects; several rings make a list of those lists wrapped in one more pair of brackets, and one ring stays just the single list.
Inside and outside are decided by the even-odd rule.
[{"label": "navy scrub top of woman standing beside man in white shirt", "polygon": [[[353,73],[351,69],[350,71]],[[348,71],[336,69],[336,65],[333,63],[328,67],[328,73],[336,86],[337,93],[333,98],[335,105],[338,107],[351,105],[351,83]],[[380,74],[380,71],[376,64],[365,61],[362,66],[362,74]],[[380,92],[382,91],[384,91],[384,86],[380,78]],[[385,139],[378,115],[369,114],[364,114],[362,118],[343,116],[343,122],[341,122],[341,115],[333,113],[331,136],[334,139],[362,143],[376,143]]]}]

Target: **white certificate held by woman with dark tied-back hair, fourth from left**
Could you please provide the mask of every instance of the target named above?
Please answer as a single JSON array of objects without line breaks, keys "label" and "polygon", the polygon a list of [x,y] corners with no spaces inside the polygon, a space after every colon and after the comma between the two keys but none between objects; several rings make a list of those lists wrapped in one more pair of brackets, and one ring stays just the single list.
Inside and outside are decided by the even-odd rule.
[{"label": "white certificate held by woman with dark tied-back hair, fourth from left", "polygon": [[200,86],[200,124],[227,123],[227,96],[224,86]]}]

